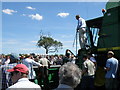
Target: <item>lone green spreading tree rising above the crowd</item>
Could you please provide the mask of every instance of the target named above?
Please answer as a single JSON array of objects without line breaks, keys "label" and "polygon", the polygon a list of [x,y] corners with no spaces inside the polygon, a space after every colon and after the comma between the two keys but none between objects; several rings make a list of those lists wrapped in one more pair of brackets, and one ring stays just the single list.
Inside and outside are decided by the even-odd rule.
[{"label": "lone green spreading tree rising above the crowd", "polygon": [[46,54],[48,54],[49,52],[58,52],[58,49],[62,49],[63,44],[50,36],[42,35],[37,42],[37,46],[45,48]]}]

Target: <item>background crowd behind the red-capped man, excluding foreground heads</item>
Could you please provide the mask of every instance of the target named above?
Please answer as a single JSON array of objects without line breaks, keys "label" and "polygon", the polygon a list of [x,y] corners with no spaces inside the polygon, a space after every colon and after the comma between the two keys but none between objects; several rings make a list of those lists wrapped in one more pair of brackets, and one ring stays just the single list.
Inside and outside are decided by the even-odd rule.
[{"label": "background crowd behind the red-capped man, excluding foreground heads", "polygon": [[[7,72],[8,69],[13,68],[18,64],[24,64],[28,67],[28,79],[31,82],[34,82],[36,79],[36,72],[34,70],[34,66],[38,66],[41,71],[41,78],[44,78],[43,83],[47,87],[47,78],[48,78],[48,68],[50,65],[63,65],[66,60],[73,61],[72,57],[67,57],[66,55],[35,55],[35,54],[22,54],[18,55],[16,53],[11,53],[9,55],[0,55],[0,85],[1,89],[5,90],[9,86],[13,84],[11,80],[11,75]],[[75,60],[75,58],[74,58]],[[75,62],[72,62],[75,63]],[[38,80],[39,81],[39,80]],[[39,82],[38,82],[39,83]]]}]

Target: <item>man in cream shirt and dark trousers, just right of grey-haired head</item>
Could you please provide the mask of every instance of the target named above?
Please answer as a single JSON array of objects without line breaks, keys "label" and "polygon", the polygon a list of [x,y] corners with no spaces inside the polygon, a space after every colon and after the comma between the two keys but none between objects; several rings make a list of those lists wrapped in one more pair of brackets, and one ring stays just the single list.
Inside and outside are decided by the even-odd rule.
[{"label": "man in cream shirt and dark trousers, just right of grey-haired head", "polygon": [[83,55],[83,66],[82,66],[82,90],[95,90],[94,87],[94,75],[95,75],[95,64],[88,59],[88,55]]}]

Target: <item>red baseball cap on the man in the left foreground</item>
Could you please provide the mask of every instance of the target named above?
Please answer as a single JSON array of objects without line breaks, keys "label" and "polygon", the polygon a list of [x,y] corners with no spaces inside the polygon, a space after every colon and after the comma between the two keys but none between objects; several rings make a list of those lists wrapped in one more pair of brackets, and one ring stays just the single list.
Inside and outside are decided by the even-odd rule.
[{"label": "red baseball cap on the man in the left foreground", "polygon": [[14,68],[8,69],[7,72],[19,71],[22,73],[28,73],[28,68],[24,64],[17,64]]}]

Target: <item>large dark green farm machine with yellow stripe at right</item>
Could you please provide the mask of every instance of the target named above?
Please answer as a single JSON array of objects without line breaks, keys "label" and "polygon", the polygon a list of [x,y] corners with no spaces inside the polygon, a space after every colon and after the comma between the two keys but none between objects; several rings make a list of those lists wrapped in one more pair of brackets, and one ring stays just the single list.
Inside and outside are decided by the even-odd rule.
[{"label": "large dark green farm machine with yellow stripe at right", "polygon": [[107,60],[107,52],[113,51],[115,58],[120,60],[120,0],[107,2],[103,16],[87,20],[87,45],[86,49],[78,50],[76,64],[82,67],[82,56],[91,52],[97,61],[95,85],[103,86],[105,81],[104,67]]}]

